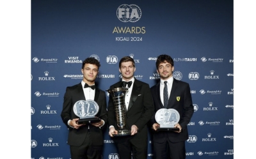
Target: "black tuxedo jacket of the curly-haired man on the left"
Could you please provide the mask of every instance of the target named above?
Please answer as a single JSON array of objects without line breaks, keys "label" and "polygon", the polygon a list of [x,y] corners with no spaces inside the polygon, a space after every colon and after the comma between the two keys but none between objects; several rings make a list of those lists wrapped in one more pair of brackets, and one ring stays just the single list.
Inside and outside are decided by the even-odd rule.
[{"label": "black tuxedo jacket of the curly-haired man on the left", "polygon": [[[68,120],[79,118],[73,111],[74,104],[79,100],[86,100],[84,97],[83,86],[81,83],[71,87],[67,87],[64,95],[63,109],[61,112],[61,118],[63,123],[67,125]],[[99,146],[103,144],[103,133],[102,129],[106,127],[108,121],[108,112],[106,110],[106,94],[101,89],[95,87],[94,101],[99,105],[99,112],[96,114],[97,117],[104,120],[105,124],[99,128],[92,125],[90,126],[90,137],[92,138],[92,144]],[[81,146],[88,133],[88,125],[81,126],[79,129],[74,129],[68,126],[68,144],[70,146]]]}]

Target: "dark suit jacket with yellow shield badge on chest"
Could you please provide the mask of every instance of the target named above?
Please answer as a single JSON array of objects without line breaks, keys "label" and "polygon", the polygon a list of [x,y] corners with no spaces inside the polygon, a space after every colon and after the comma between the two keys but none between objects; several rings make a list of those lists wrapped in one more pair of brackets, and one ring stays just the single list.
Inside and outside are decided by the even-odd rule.
[{"label": "dark suit jacket with yellow shield badge on chest", "polygon": [[[154,98],[155,114],[157,110],[163,109],[163,103],[160,98],[160,81],[150,88],[152,96]],[[179,98],[180,99],[177,99]],[[189,84],[180,80],[173,79],[172,90],[166,109],[176,109],[180,114],[179,124],[182,128],[182,132],[153,132],[152,137],[154,142],[164,142],[164,133],[168,134],[168,139],[171,142],[180,142],[188,139],[187,125],[194,113],[194,107],[192,103]],[[152,125],[156,122],[155,114],[151,118]]]}]

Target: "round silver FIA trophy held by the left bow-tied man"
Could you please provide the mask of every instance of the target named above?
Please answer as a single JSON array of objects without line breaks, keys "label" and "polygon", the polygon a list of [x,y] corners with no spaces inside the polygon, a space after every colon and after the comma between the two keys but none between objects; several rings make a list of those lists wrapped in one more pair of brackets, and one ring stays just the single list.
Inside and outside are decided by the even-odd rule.
[{"label": "round silver FIA trophy held by the left bow-tied man", "polygon": [[79,117],[79,125],[100,122],[99,117],[95,117],[99,112],[99,105],[94,100],[79,100],[74,104],[73,110]]}]

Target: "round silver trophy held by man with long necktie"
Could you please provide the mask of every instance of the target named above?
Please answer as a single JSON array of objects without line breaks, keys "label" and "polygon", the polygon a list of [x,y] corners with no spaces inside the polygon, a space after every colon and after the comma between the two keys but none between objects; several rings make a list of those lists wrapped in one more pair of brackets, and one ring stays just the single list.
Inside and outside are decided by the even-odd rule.
[{"label": "round silver trophy held by man with long necktie", "polygon": [[160,125],[157,131],[179,131],[174,125],[179,123],[180,114],[175,109],[159,109],[156,112],[155,119]]}]

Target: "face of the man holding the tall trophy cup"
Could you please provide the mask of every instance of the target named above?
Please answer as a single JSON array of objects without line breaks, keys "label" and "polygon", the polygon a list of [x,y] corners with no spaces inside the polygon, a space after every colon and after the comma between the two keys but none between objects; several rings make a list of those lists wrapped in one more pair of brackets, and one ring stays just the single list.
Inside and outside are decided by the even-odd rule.
[{"label": "face of the man holding the tall trophy cup", "polygon": [[122,77],[124,80],[128,81],[131,80],[136,68],[133,66],[132,61],[127,61],[121,63],[119,68],[119,72],[122,73]]}]

